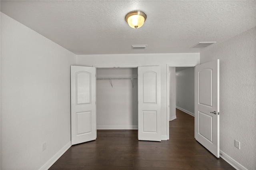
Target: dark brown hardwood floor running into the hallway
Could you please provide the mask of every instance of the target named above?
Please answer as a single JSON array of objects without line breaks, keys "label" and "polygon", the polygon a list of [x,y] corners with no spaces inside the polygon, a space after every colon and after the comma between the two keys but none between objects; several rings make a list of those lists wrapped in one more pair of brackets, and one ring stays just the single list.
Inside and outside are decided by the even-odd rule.
[{"label": "dark brown hardwood floor running into the hallway", "polygon": [[194,117],[176,109],[170,140],[138,141],[137,130],[98,130],[97,139],[71,146],[50,170],[234,170],[194,138]]}]

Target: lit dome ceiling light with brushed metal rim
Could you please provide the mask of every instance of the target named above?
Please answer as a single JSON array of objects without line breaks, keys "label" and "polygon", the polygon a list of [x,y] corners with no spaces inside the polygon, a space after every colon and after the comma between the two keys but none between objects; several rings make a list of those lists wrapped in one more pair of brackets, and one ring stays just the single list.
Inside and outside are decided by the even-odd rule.
[{"label": "lit dome ceiling light with brushed metal rim", "polygon": [[147,19],[147,15],[142,11],[132,11],[125,16],[126,22],[132,28],[140,28]]}]

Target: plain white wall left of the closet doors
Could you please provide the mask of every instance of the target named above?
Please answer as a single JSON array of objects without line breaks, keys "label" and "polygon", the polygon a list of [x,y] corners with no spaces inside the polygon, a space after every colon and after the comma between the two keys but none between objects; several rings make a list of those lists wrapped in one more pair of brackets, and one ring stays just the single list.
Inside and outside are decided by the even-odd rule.
[{"label": "plain white wall left of the closet doors", "polygon": [[1,13],[1,169],[45,167],[70,146],[74,63],[76,55]]}]

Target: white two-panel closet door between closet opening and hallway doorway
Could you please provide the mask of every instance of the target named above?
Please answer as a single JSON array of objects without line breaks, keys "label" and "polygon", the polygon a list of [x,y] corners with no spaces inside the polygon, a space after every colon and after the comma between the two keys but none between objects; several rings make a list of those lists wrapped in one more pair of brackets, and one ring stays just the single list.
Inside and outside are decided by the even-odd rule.
[{"label": "white two-panel closet door between closet opening and hallway doorway", "polygon": [[138,139],[161,141],[160,66],[138,67]]}]

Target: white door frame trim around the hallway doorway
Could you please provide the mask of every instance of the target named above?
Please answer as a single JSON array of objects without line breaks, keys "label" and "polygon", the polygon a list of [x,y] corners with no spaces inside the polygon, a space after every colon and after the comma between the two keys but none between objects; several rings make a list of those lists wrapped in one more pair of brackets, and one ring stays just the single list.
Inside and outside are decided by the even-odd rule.
[{"label": "white door frame trim around the hallway doorway", "polygon": [[166,64],[166,120],[167,120],[167,140],[170,139],[169,121],[170,121],[170,75],[169,67],[195,67],[200,63],[172,63]]}]

